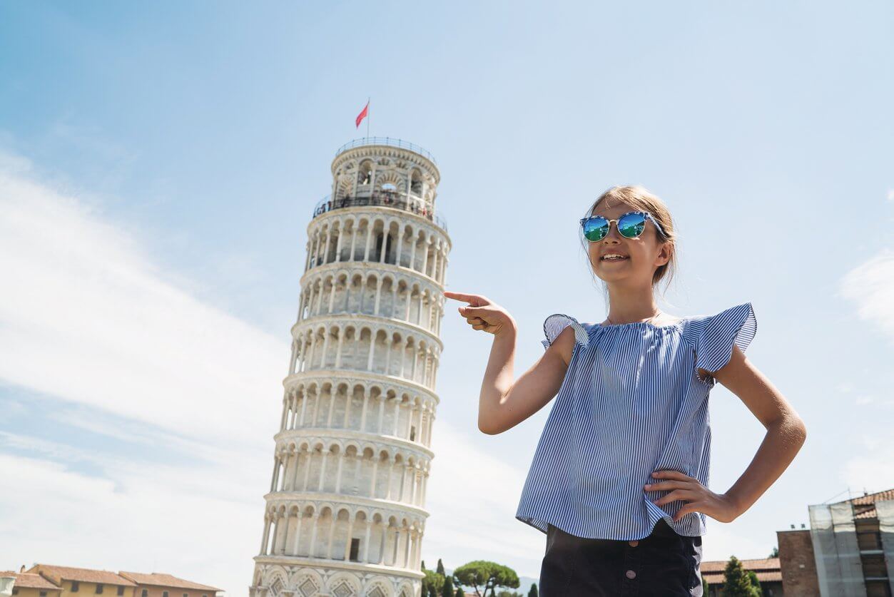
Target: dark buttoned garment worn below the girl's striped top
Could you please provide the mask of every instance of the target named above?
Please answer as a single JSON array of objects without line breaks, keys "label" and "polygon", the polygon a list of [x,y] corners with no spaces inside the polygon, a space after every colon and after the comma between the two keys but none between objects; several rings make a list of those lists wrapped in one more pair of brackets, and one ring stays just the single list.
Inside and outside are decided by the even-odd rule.
[{"label": "dark buttoned garment worn below the girl's striped top", "polygon": [[638,542],[547,529],[540,597],[702,597],[702,538],[677,534],[663,518]]}]

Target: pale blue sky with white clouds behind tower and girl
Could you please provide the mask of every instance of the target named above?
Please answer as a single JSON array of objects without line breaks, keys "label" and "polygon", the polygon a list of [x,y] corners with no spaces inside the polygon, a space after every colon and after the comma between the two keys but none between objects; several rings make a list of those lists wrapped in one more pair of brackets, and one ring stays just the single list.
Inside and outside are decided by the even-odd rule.
[{"label": "pale blue sky with white clouds behind tower and girl", "polygon": [[[578,218],[671,209],[660,302],[751,302],[797,458],[705,559],[894,487],[894,7],[832,3],[0,2],[0,569],[166,572],[248,593],[313,207],[338,147],[426,147],[446,289],[603,321]],[[477,430],[491,336],[449,301],[422,557],[536,577],[514,518],[549,408]],[[710,487],[763,427],[711,393]],[[848,493],[849,492],[849,493]]]}]

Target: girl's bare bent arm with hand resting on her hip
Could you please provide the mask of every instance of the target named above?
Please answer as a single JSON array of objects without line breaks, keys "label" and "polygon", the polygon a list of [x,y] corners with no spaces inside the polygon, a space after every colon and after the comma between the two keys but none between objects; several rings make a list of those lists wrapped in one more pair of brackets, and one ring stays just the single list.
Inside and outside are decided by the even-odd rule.
[{"label": "girl's bare bent arm with hand resting on her hip", "polygon": [[674,500],[688,502],[679,509],[674,520],[690,512],[703,512],[721,522],[736,519],[751,508],[789,467],[807,437],[804,421],[795,409],[735,344],[730,362],[712,375],[745,403],[767,433],[755,458],[726,493],[711,492],[697,479],[678,471],[654,472],[655,479],[663,480],[645,485],[646,491],[673,490],[660,500],[654,500],[655,504]]}]

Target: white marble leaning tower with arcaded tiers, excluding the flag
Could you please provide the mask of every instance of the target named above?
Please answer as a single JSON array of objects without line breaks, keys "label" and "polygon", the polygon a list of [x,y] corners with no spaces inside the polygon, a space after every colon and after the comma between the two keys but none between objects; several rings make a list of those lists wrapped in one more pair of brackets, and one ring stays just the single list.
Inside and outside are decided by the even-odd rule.
[{"label": "white marble leaning tower with arcaded tiers, excluding the flag", "polygon": [[252,597],[417,597],[451,248],[425,149],[358,139],[308,223]]}]

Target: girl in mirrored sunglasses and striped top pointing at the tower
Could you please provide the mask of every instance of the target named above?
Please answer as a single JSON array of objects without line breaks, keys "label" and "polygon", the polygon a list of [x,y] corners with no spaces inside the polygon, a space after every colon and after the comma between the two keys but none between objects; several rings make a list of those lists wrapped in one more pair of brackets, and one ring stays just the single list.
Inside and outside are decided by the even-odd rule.
[{"label": "girl in mirrored sunglasses and striped top pointing at the tower", "polygon": [[[480,295],[460,315],[493,333],[478,429],[502,433],[556,396],[516,517],[546,534],[542,597],[702,595],[705,516],[724,523],[750,508],[805,441],[805,425],[746,359],[751,303],[717,313],[662,313],[654,288],[675,265],[667,206],[642,187],[613,187],[580,221],[608,316],[546,318],[544,355],[515,380],[517,325]],[[708,489],[708,393],[719,381],[766,428],[755,458],[727,492]],[[557,395],[558,392],[558,395]]]}]

